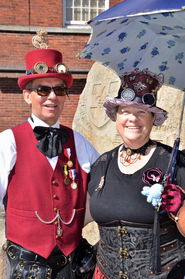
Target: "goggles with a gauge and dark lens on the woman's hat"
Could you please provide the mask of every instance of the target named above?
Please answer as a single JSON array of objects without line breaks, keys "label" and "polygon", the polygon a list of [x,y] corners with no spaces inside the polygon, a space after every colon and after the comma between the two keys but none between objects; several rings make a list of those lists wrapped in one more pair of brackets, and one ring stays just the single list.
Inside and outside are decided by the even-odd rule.
[{"label": "goggles with a gauge and dark lens on the woman's hat", "polygon": [[126,88],[121,92],[120,99],[126,101],[135,100],[143,104],[149,104],[149,105],[156,104],[156,97],[152,93],[145,93],[144,95],[136,95],[135,92],[130,88]]}]

